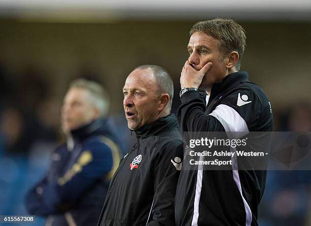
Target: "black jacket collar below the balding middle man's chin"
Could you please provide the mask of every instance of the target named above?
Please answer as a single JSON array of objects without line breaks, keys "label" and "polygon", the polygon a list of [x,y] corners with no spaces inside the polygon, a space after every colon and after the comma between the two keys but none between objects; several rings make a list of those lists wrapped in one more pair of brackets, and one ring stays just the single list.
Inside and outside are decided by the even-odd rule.
[{"label": "black jacket collar below the balding middle man's chin", "polygon": [[174,114],[170,114],[165,117],[158,118],[150,124],[145,124],[138,130],[134,131],[137,138],[145,138],[152,135],[157,135],[160,132],[166,132],[172,128],[177,127],[177,119]]}]

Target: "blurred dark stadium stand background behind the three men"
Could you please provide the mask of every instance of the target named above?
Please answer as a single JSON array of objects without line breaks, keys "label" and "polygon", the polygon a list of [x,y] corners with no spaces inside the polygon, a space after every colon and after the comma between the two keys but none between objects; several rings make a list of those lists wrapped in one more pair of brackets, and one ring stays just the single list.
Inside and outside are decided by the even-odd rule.
[{"label": "blurred dark stadium stand background behind the three men", "polygon": [[[105,86],[129,148],[126,77],[140,64],[167,69],[175,113],[189,29],[214,17],[233,18],[246,30],[241,70],[267,93],[275,131],[311,131],[310,1],[0,0],[0,215],[26,215],[25,192],[64,140],[59,109],[70,81]],[[260,225],[310,226],[310,185],[310,171],[269,171]]]}]

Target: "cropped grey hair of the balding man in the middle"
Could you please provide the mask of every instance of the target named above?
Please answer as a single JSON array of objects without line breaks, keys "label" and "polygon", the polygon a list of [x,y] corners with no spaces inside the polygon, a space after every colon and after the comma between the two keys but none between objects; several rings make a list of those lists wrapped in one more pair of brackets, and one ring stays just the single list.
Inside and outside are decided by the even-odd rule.
[{"label": "cropped grey hair of the balding man in the middle", "polygon": [[142,70],[151,69],[152,70],[154,77],[155,77],[155,81],[157,82],[157,87],[158,87],[157,93],[158,95],[161,95],[162,93],[169,94],[170,101],[167,105],[167,108],[171,110],[173,95],[174,95],[174,85],[173,85],[173,80],[171,76],[169,75],[169,73],[160,66],[150,65],[150,64],[138,66],[134,70],[136,69],[142,69]]}]

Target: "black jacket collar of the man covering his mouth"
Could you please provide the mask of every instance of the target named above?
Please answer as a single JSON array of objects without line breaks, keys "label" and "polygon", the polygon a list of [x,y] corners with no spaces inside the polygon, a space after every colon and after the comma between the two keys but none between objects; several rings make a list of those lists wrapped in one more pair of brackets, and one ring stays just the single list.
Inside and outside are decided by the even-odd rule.
[{"label": "black jacket collar of the man covering his mouth", "polygon": [[208,103],[210,103],[215,98],[215,96],[229,89],[234,88],[242,81],[248,81],[247,72],[242,71],[231,73],[227,75],[222,81],[215,82],[212,86]]}]

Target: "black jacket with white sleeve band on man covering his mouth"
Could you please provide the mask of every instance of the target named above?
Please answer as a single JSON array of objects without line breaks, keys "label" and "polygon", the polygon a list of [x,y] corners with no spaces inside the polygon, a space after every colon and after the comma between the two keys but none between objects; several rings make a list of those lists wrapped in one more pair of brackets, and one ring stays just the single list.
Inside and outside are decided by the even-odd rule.
[{"label": "black jacket with white sleeve band on man covering his mouth", "polygon": [[[215,83],[207,106],[200,92],[185,92],[177,113],[181,131],[272,131],[271,105],[263,90],[247,79],[246,72],[237,72]],[[176,225],[258,225],[265,180],[266,171],[258,170],[182,170],[176,191]]]}]

